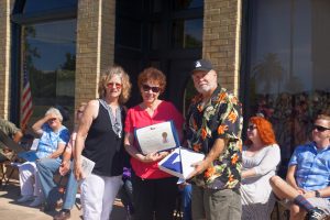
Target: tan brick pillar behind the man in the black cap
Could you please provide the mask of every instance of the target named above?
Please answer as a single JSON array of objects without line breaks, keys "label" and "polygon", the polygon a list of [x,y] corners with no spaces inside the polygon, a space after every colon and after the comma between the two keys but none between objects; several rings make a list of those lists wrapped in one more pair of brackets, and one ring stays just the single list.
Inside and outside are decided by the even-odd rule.
[{"label": "tan brick pillar behind the man in the black cap", "polygon": [[222,87],[239,91],[241,0],[205,0],[202,57],[218,72]]}]

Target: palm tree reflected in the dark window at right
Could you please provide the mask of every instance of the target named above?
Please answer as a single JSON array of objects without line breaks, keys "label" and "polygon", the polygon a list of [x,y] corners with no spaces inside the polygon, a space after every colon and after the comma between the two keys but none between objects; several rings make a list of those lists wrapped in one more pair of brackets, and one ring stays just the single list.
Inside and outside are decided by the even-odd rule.
[{"label": "palm tree reflected in the dark window at right", "polygon": [[271,90],[275,82],[277,82],[277,92],[279,92],[283,76],[284,68],[275,53],[267,53],[263,61],[252,68],[252,78],[263,85],[262,91],[265,94],[272,94]]}]

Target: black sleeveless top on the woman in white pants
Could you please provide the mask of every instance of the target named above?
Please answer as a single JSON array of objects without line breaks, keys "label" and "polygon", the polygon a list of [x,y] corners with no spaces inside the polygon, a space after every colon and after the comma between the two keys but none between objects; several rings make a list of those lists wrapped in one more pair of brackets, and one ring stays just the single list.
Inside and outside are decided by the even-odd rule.
[{"label": "black sleeveless top on the woman in white pants", "polygon": [[[121,108],[121,120],[124,124],[124,109]],[[119,138],[112,130],[108,110],[99,102],[98,117],[92,121],[82,155],[94,161],[92,174],[99,176],[119,176],[123,170],[123,130]]]}]

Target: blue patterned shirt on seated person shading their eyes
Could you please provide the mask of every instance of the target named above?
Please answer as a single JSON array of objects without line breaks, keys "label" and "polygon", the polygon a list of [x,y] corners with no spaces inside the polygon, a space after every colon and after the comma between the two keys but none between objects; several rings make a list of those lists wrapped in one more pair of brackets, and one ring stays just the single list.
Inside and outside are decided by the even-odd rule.
[{"label": "blue patterned shirt on seated person shading their eyes", "polygon": [[46,157],[54,153],[57,150],[57,145],[59,143],[67,144],[69,141],[69,131],[66,127],[62,125],[62,128],[54,132],[52,128],[45,123],[42,127],[43,134],[40,138],[36,156],[38,158]]}]

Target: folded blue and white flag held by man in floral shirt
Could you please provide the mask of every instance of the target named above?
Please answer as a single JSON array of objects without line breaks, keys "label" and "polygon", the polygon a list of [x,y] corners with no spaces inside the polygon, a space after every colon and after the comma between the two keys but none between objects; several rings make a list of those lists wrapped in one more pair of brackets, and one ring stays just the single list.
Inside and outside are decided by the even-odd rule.
[{"label": "folded blue and white flag held by man in floral shirt", "polygon": [[202,161],[204,154],[178,147],[158,163],[160,169],[182,179],[194,172],[191,164]]}]

